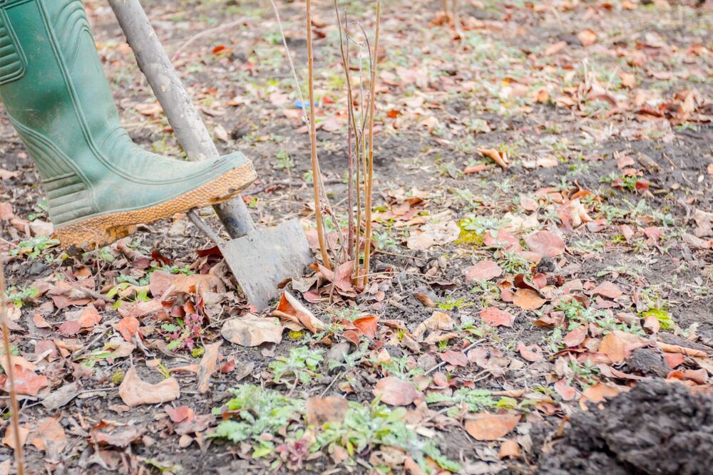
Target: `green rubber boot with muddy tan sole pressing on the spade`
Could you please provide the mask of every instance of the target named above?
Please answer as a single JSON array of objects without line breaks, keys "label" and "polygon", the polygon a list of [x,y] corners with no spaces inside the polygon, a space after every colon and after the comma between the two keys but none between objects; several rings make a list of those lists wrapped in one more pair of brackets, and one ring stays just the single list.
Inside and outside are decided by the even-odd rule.
[{"label": "green rubber boot with muddy tan sole pressing on the spade", "polygon": [[224,202],[255,180],[240,152],[183,162],[132,142],[80,0],[1,0],[0,14],[0,95],[63,246],[107,244],[135,224]]}]

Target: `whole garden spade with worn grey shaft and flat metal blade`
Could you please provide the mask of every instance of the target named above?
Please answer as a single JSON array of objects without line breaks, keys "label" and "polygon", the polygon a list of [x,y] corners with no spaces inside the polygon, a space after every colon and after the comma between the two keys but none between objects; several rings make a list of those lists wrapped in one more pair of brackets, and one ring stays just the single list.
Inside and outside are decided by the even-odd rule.
[{"label": "whole garden spade with worn grey shaft and flat metal blade", "polygon": [[[109,0],[109,4],[188,159],[217,157],[215,143],[139,1]],[[230,241],[220,239],[193,210],[188,216],[217,244],[247,301],[257,310],[266,308],[279,295],[280,283],[302,276],[304,268],[314,261],[297,219],[257,229],[242,197],[217,204],[214,209],[233,238]]]}]

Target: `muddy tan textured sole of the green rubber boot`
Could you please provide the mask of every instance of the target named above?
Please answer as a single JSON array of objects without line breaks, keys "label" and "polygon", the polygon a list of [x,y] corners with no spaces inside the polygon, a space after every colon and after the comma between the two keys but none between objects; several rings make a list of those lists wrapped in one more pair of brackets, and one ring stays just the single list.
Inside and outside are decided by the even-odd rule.
[{"label": "muddy tan textured sole of the green rubber boot", "polygon": [[56,234],[63,248],[97,249],[132,234],[137,224],[151,223],[193,208],[227,202],[250,186],[255,178],[257,174],[252,163],[246,163],[180,197],[148,208],[103,214],[61,226],[56,228]]}]

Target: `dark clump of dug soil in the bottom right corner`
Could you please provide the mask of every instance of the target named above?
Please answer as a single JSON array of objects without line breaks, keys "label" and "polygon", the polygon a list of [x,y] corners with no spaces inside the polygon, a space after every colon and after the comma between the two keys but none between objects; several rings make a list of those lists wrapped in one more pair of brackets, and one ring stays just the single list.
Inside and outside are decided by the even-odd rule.
[{"label": "dark clump of dug soil in the bottom right corner", "polygon": [[713,398],[663,380],[642,381],[603,409],[574,414],[538,474],[709,473]]}]

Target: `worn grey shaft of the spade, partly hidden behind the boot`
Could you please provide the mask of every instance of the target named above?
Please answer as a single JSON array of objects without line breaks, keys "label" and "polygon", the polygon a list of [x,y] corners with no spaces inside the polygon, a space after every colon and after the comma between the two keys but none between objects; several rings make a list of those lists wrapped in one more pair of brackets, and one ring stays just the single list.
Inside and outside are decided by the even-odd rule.
[{"label": "worn grey shaft of the spade, partly hidden behind the boot", "polygon": [[[139,1],[109,0],[109,4],[188,160],[217,158],[220,154],[215,143]],[[213,209],[233,239],[255,229],[242,197]]]}]

